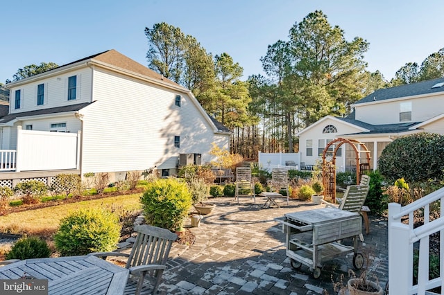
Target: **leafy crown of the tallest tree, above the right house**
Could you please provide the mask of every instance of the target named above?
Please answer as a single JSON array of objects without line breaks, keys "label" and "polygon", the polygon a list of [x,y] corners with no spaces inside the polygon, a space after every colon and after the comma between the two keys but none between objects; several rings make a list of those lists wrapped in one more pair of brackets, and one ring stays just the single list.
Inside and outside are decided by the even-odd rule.
[{"label": "leafy crown of the tallest tree, above the right house", "polygon": [[293,93],[308,126],[325,115],[341,115],[362,96],[361,80],[368,42],[345,40],[339,26],[331,26],[323,12],[311,12],[290,29]]}]

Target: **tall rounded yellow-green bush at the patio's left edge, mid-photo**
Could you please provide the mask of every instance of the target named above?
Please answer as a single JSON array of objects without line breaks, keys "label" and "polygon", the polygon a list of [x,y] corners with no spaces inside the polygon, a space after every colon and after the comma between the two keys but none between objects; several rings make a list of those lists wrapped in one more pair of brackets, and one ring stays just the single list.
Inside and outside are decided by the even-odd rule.
[{"label": "tall rounded yellow-green bush at the patio's left edge, mid-photo", "polygon": [[148,224],[171,231],[183,226],[192,205],[187,183],[172,178],[149,183],[141,202]]}]

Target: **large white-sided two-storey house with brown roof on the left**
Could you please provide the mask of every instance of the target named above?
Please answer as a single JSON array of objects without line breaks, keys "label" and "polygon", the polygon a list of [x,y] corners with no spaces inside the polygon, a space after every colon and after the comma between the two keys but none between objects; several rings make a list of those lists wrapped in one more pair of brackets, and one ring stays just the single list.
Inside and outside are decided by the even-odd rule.
[{"label": "large white-sided two-storey house with brown roof on the left", "polygon": [[179,154],[205,163],[213,142],[229,148],[230,130],[210,118],[191,91],[115,50],[6,87],[10,109],[0,118],[1,149],[17,148],[18,126],[79,133],[80,175],[114,172],[118,178],[154,166],[162,176],[174,175]]}]

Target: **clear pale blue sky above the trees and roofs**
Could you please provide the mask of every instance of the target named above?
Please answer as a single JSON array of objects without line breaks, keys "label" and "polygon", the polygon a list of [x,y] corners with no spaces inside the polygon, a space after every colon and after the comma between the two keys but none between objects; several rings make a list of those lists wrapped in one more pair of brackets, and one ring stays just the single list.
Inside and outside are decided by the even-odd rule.
[{"label": "clear pale blue sky above the trees and roofs", "polygon": [[391,79],[406,62],[444,47],[442,0],[15,0],[2,3],[0,82],[28,64],[66,64],[116,49],[146,65],[144,28],[162,21],[213,55],[228,53],[249,75],[263,73],[268,45],[288,40],[295,22],[322,10],[349,41],[370,42],[368,70]]}]

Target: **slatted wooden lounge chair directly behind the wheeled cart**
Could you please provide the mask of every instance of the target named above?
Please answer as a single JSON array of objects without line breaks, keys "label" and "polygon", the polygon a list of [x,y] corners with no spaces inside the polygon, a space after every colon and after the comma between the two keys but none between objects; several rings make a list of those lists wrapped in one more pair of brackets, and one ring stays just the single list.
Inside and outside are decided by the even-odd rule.
[{"label": "slatted wooden lounge chair directly behind the wheeled cart", "polygon": [[[366,233],[368,233],[369,229],[369,221],[368,221],[368,215],[366,211],[363,211],[364,202],[366,202],[366,197],[368,195],[368,190],[370,187],[368,185],[366,186],[347,186],[347,190],[345,190],[344,196],[341,199],[340,204],[332,204],[329,202],[326,202],[325,200],[322,200],[321,202],[327,207],[336,207],[341,210],[346,210],[350,212],[360,213],[362,217],[364,217],[364,224],[366,226]],[[336,198],[337,200],[337,198]],[[365,213],[364,213],[365,212]],[[364,237],[361,234],[360,236],[361,241],[364,241]]]}]

